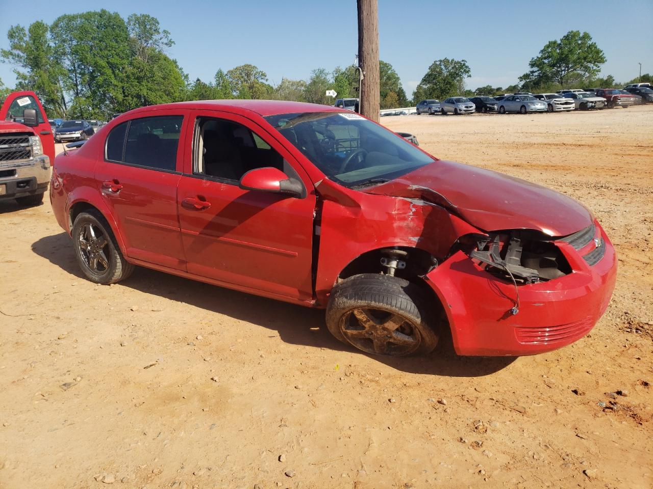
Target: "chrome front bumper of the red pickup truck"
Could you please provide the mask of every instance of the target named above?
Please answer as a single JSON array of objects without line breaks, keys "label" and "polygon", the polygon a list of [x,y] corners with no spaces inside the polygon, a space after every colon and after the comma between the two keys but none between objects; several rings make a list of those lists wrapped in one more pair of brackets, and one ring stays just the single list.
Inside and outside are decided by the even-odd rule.
[{"label": "chrome front bumper of the red pickup truck", "polygon": [[10,173],[0,178],[0,199],[13,199],[45,192],[52,167],[50,158],[40,155],[20,163],[3,162],[0,171]]}]

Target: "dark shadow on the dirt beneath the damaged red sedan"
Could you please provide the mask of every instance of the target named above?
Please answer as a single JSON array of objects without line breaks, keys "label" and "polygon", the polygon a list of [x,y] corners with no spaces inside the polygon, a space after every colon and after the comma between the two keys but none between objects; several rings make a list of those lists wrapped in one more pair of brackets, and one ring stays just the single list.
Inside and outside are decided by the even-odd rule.
[{"label": "dark shadow on the dirt beneath the damaged red sedan", "polygon": [[[66,233],[42,237],[32,244],[32,250],[68,273],[83,277]],[[266,327],[277,331],[281,340],[289,344],[334,349],[347,355],[365,355],[331,336],[325,325],[325,313],[320,309],[274,301],[142,267],[137,267],[134,274],[119,285]],[[402,372],[451,377],[486,376],[517,359],[460,357],[453,349],[451,334],[443,334],[438,348],[426,357],[370,357]]]}]

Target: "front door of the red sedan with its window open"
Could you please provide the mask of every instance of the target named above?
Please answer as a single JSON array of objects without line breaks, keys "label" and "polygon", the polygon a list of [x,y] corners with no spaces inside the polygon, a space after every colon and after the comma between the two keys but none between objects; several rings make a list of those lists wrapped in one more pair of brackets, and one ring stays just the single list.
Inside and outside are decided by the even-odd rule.
[{"label": "front door of the red sedan with its window open", "polygon": [[[223,111],[193,111],[178,210],[190,273],[293,301],[313,297],[313,185],[279,136]],[[298,179],[302,198],[238,186],[266,166]]]}]

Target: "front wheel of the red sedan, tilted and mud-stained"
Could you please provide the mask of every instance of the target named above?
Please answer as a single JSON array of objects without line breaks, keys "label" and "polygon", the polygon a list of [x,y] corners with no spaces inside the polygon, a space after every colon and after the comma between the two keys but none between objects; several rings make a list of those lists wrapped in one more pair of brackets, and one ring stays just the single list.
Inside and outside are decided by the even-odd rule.
[{"label": "front wheel of the red sedan, tilted and mud-stained", "polygon": [[422,290],[403,278],[365,273],[334,287],[327,327],[338,340],[373,355],[424,355],[438,345],[436,318]]}]

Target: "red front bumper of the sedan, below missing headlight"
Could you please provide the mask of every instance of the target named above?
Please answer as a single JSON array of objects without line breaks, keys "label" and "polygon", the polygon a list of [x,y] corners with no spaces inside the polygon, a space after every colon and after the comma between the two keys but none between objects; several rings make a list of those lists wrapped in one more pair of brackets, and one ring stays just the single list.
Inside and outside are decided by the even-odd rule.
[{"label": "red front bumper of the sedan, below missing headlight", "polygon": [[[515,286],[487,273],[457,252],[426,274],[444,305],[458,355],[535,355],[571,344],[594,327],[607,308],[616,280],[616,254],[596,224],[594,241],[581,250],[556,244],[572,273],[549,282],[519,286],[520,308],[513,316]],[[603,247],[603,248],[602,248]],[[585,257],[585,258],[584,258]],[[591,258],[591,259],[590,259]],[[590,260],[590,263],[588,263]]]}]

